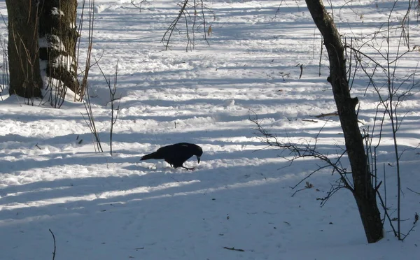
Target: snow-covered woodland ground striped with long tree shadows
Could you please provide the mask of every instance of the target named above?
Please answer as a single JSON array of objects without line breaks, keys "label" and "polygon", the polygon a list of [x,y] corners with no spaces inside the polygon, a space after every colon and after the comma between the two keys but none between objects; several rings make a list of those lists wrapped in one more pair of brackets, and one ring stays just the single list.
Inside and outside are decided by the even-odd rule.
[{"label": "snow-covered woodland ground striped with long tree shadows", "polygon": [[[314,117],[334,112],[335,101],[326,81],[325,50],[318,75],[321,36],[304,1],[209,1],[210,45],[197,32],[195,50],[188,52],[185,31],[174,33],[170,50],[160,43],[179,12],[176,1],[146,1],[141,12],[130,0],[95,2],[92,53],[99,57],[103,52],[100,66],[109,75],[118,62],[117,96],[122,99],[114,154],[108,145],[109,90],[96,66],[90,72],[90,96],[104,153],[94,152],[83,104],[26,106],[25,100],[3,92],[1,260],[52,259],[49,229],[60,260],[419,259],[416,228],[402,243],[386,221],[386,237],[368,245],[350,192],[342,189],[320,207],[317,198],[325,197],[338,178],[330,169],[308,179],[313,188],[292,196],[305,184],[290,187],[321,162],[305,159],[288,166],[280,150],[262,150],[265,145],[255,137],[248,118],[253,113],[280,138],[310,141],[323,128],[321,151],[336,154],[344,147],[337,117]],[[358,39],[377,31],[393,4],[332,3],[342,34]],[[394,23],[402,20],[404,6],[407,1],[395,8]],[[5,1],[0,11],[7,20]],[[420,45],[418,27],[412,18],[413,46]],[[6,25],[0,28],[6,38]],[[418,60],[419,52],[410,52],[400,59],[398,73],[411,73]],[[372,127],[377,95],[365,91],[363,73],[357,78],[352,94],[360,101],[360,127]],[[420,213],[420,196],[409,191],[420,192],[420,155],[407,150],[419,145],[420,95],[414,91],[400,107],[402,115],[407,113],[398,131],[400,151],[405,150],[401,226],[407,233],[415,212]],[[389,137],[387,122],[378,149],[379,175],[384,165],[382,188],[396,217]],[[186,162],[195,171],[139,161],[143,154],[179,142],[202,146],[202,162]],[[348,164],[345,158],[343,164]]]}]

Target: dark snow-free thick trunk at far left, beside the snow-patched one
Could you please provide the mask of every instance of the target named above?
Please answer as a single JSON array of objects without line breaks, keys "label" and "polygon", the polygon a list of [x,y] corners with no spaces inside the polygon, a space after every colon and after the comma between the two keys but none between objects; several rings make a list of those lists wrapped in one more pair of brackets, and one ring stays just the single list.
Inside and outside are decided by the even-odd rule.
[{"label": "dark snow-free thick trunk at far left, beside the snow-patched one", "polygon": [[8,11],[9,94],[41,97],[38,17],[34,0],[6,0]]}]

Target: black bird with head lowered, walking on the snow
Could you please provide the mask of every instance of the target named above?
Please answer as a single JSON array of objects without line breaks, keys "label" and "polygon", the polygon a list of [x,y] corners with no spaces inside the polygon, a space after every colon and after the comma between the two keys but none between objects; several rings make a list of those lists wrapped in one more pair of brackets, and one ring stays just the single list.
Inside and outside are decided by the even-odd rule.
[{"label": "black bird with head lowered, walking on the snow", "polygon": [[183,166],[183,163],[190,159],[193,155],[197,157],[197,161],[200,164],[200,157],[203,154],[202,147],[193,143],[176,143],[174,145],[167,145],[160,147],[156,152],[146,154],[141,157],[141,161],[148,159],[165,159],[168,164],[171,164],[174,168],[182,167],[188,170],[194,170],[194,168],[187,168]]}]

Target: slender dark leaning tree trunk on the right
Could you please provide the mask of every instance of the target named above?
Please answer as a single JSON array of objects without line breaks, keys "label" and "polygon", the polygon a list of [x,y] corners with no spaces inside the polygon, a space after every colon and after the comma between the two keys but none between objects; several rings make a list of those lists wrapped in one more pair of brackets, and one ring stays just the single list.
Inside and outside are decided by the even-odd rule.
[{"label": "slender dark leaning tree trunk on the right", "polygon": [[383,226],[355,112],[358,99],[351,99],[350,96],[349,82],[346,77],[344,46],[334,21],[328,15],[321,0],[306,0],[306,3],[316,27],[321,31],[325,48],[328,51],[330,60],[328,81],[332,85],[332,92],[346,142],[346,150],[349,155],[354,185],[353,196],[358,205],[367,242],[375,243],[384,236]]}]

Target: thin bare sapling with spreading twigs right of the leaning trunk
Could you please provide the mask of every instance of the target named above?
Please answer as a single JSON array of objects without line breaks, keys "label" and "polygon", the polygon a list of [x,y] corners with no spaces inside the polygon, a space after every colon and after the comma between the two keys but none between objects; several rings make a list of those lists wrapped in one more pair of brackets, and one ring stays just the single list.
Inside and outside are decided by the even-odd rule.
[{"label": "thin bare sapling with spreading twigs right of the leaning trunk", "polygon": [[[367,77],[369,83],[365,89],[373,89],[373,92],[377,94],[379,103],[376,108],[374,115],[373,126],[367,127],[363,130],[365,136],[365,147],[366,153],[369,159],[369,166],[372,172],[372,183],[376,187],[379,187],[378,171],[380,170],[377,165],[377,150],[383,143],[384,127],[388,125],[391,128],[391,138],[393,140],[393,154],[395,156],[395,176],[397,179],[398,192],[397,192],[397,228],[395,229],[391,222],[391,216],[388,213],[386,205],[386,176],[385,166],[383,167],[384,172],[384,198],[377,189],[381,206],[384,209],[385,217],[389,220],[389,224],[393,229],[395,236],[399,240],[404,240],[409,234],[403,234],[401,231],[401,168],[400,160],[405,150],[400,150],[398,145],[398,130],[400,129],[402,122],[405,120],[407,111],[402,111],[401,105],[407,100],[409,96],[412,96],[420,87],[420,81],[417,80],[419,72],[417,68],[414,71],[407,73],[406,68],[399,66],[401,60],[412,52],[414,48],[410,48],[409,39],[409,16],[412,13],[412,1],[409,1],[406,13],[404,17],[398,22],[393,22],[395,13],[395,7],[398,1],[393,3],[393,6],[388,13],[388,20],[382,24],[382,26],[370,34],[368,37],[364,37],[359,41],[353,41],[345,43],[347,61],[349,63],[349,82],[353,83],[356,77],[356,72],[362,71]],[[373,55],[371,54],[373,52]],[[353,70],[353,73],[350,71]],[[350,81],[351,80],[351,81]],[[394,170],[393,170],[394,171]],[[379,182],[379,184],[377,183]],[[412,229],[410,229],[411,231]]]}]

